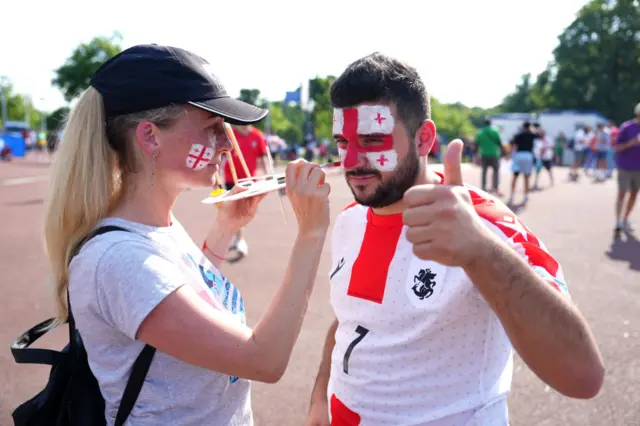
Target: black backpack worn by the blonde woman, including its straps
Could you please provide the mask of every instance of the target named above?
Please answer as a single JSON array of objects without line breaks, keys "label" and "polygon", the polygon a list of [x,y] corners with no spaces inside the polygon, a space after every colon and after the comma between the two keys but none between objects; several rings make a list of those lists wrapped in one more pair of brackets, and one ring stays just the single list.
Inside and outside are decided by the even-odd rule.
[{"label": "black backpack worn by the blonde woman, including its straps", "polygon": [[[73,251],[76,256],[80,248],[95,236],[125,231],[117,226],[95,229],[85,237]],[[67,302],[69,292],[67,291]],[[54,322],[50,318],[27,330],[11,344],[11,353],[18,364],[45,364],[51,366],[45,388],[33,398],[18,406],[12,416],[16,426],[104,426],[105,402],[98,381],[91,372],[87,352],[69,306],[69,344],[61,351],[35,349],[30,346],[45,335]],[[155,348],[146,345],[133,364],[131,376],[124,390],[115,425],[122,426],[129,417],[138,399],[145,377],[151,366]]]}]

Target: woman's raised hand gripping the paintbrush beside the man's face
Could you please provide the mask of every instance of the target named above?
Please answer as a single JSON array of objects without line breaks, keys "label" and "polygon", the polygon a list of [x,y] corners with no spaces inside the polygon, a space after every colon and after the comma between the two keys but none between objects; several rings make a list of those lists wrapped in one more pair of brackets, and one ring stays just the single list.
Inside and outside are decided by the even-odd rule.
[{"label": "woman's raised hand gripping the paintbrush beside the man's face", "polygon": [[299,159],[287,165],[287,197],[298,221],[300,235],[322,235],[329,229],[329,193],[324,170]]}]

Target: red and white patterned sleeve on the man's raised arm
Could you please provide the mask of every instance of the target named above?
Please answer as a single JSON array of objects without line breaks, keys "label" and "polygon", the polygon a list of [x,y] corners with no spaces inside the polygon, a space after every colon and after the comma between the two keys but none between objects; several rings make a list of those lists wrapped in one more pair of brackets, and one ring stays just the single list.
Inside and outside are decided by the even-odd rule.
[{"label": "red and white patterned sleeve on the man's raised arm", "polygon": [[469,192],[476,212],[487,227],[522,256],[538,276],[569,296],[562,267],[544,243],[502,202]]}]

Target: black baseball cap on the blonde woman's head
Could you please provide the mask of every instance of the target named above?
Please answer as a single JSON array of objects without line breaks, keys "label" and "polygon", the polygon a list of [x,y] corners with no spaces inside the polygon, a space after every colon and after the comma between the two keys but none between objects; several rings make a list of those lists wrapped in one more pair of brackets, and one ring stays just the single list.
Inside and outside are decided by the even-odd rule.
[{"label": "black baseball cap on the blonde woman's head", "polygon": [[130,47],[107,60],[91,78],[107,117],[171,104],[191,104],[231,124],[252,124],[268,110],[234,99],[210,64],[184,49],[157,44]]}]

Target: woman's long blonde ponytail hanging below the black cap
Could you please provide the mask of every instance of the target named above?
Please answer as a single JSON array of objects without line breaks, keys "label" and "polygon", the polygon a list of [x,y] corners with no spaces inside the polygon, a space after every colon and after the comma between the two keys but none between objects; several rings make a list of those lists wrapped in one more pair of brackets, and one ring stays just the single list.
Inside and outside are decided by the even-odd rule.
[{"label": "woman's long blonde ponytail hanging below the black cap", "polygon": [[171,105],[106,119],[102,96],[89,87],[68,117],[49,179],[44,234],[57,305],[53,325],[67,321],[69,262],[76,245],[131,187],[142,154],[131,133],[142,120],[166,127],[185,113]]}]

